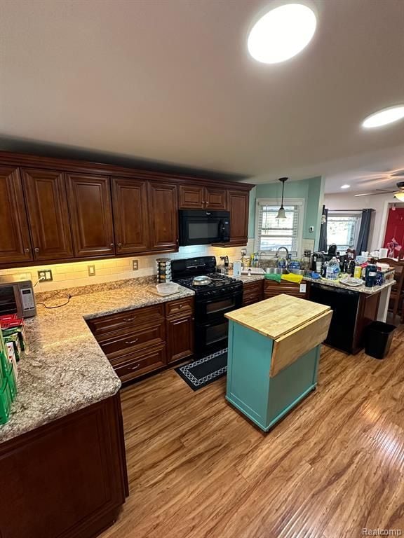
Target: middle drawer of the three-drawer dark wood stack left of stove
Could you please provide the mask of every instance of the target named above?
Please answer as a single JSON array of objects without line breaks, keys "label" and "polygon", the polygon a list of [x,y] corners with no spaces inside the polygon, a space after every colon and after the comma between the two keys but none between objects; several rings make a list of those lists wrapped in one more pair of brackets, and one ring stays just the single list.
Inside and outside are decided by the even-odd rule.
[{"label": "middle drawer of the three-drawer dark wood stack left of stove", "polygon": [[137,329],[136,331],[119,333],[114,338],[100,342],[100,346],[107,357],[113,359],[121,357],[130,350],[135,351],[142,347],[163,343],[165,336],[166,331],[162,321],[152,327],[142,327],[142,329]]}]

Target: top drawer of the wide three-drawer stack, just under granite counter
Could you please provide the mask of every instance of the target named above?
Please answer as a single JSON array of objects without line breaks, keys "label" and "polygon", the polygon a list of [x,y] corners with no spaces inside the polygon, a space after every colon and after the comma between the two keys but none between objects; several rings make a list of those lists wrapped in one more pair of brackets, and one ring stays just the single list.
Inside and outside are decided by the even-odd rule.
[{"label": "top drawer of the wide three-drawer stack, just under granite counter", "polygon": [[133,331],[139,324],[154,324],[164,317],[163,305],[145,306],[135,310],[126,310],[119,314],[88,319],[87,323],[94,336],[102,336],[114,331]]}]

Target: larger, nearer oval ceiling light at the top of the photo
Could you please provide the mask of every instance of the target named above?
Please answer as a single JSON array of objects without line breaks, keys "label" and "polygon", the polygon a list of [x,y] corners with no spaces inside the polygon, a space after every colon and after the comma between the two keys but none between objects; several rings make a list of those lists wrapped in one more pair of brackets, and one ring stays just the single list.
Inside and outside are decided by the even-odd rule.
[{"label": "larger, nearer oval ceiling light at the top of the photo", "polygon": [[303,4],[285,4],[258,20],[248,36],[248,52],[264,64],[277,64],[297,55],[316,31],[316,15]]}]

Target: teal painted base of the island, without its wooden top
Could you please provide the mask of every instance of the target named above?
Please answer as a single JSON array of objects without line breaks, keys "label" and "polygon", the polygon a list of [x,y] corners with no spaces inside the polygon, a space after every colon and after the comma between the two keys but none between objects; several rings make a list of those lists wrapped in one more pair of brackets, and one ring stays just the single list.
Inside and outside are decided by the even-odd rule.
[{"label": "teal painted base of the island, without its wooden top", "polygon": [[316,388],[320,347],[271,377],[274,340],[229,320],[227,401],[267,432]]}]

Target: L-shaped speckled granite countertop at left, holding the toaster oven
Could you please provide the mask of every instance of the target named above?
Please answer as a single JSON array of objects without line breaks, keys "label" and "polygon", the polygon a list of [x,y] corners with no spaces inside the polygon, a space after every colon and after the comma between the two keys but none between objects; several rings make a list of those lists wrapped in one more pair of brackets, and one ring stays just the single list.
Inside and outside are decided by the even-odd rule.
[{"label": "L-shaped speckled granite countertop at left, holding the toaster oven", "polygon": [[72,293],[69,304],[62,308],[48,310],[37,304],[36,317],[25,320],[28,350],[18,363],[18,396],[10,419],[0,425],[0,443],[119,391],[121,381],[85,319],[194,295],[184,287],[166,297],[151,290],[151,282],[130,280],[112,289],[83,295],[64,290],[46,298],[48,306],[58,305]]}]

